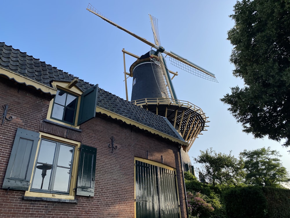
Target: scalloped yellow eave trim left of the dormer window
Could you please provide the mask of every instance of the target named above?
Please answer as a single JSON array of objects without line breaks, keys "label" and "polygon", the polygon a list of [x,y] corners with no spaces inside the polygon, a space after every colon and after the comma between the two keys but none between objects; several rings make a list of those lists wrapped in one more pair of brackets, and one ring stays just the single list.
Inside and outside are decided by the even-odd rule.
[{"label": "scalloped yellow eave trim left of the dormer window", "polygon": [[50,95],[55,95],[57,90],[53,87],[49,87],[37,81],[34,81],[30,78],[22,76],[20,74],[14,73],[8,69],[0,67],[0,75],[7,76],[9,79],[13,79],[17,83],[24,83],[26,86],[32,86],[36,90],[41,90],[44,93],[48,93]]}]

